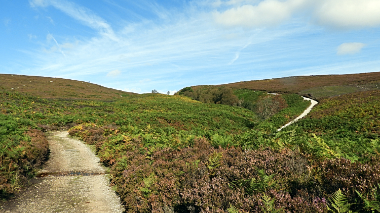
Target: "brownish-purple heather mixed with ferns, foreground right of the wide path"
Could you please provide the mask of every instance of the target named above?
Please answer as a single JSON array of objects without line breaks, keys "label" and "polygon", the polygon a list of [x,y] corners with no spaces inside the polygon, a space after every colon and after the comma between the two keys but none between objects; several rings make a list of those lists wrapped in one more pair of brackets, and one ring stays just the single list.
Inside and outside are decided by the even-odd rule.
[{"label": "brownish-purple heather mixed with ferns, foreground right of the wide path", "polygon": [[282,212],[327,212],[327,199],[337,190],[356,203],[352,210],[366,212],[356,191],[372,192],[380,178],[377,155],[353,162],[326,151],[318,137],[309,139],[312,147],[296,145],[294,131],[283,133],[293,138],[257,139],[256,148],[215,147],[203,137],[182,146],[153,145],[143,136],[147,132],[91,125],[69,133],[96,144],[127,212],[225,212],[231,206],[265,212],[264,198]]}]

